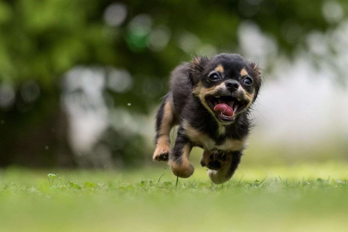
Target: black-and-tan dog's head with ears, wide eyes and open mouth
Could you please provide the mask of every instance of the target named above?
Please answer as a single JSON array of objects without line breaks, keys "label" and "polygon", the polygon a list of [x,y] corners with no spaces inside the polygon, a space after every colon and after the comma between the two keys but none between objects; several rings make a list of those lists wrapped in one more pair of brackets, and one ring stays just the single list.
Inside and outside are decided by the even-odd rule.
[{"label": "black-and-tan dog's head with ears, wide eyes and open mouth", "polygon": [[259,67],[236,54],[193,58],[189,71],[193,95],[222,124],[247,110],[261,87]]}]

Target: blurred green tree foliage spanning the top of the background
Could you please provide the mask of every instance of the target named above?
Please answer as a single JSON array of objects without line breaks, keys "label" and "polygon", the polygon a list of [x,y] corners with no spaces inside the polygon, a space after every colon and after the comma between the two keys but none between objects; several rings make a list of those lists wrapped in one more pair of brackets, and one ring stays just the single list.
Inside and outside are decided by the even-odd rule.
[{"label": "blurred green tree foliage spanning the top of the background", "polygon": [[[345,10],[346,2],[340,2]],[[127,1],[126,21],[117,27],[103,21],[108,5],[110,1],[0,1],[0,78],[17,85],[35,79],[41,87],[53,88],[56,78],[77,64],[125,67],[139,81],[142,77],[137,74],[164,78],[190,56],[177,46],[177,37],[184,32],[196,34],[219,51],[233,51],[239,43],[238,24],[251,20],[288,50],[303,42],[303,37],[286,42],[282,35],[286,25],[298,25],[302,34],[329,27],[321,2],[301,0],[265,0],[254,5],[244,0]],[[150,31],[130,30],[129,22],[140,14],[150,17],[152,29],[169,28],[172,39],[164,50],[148,48]]]}]

